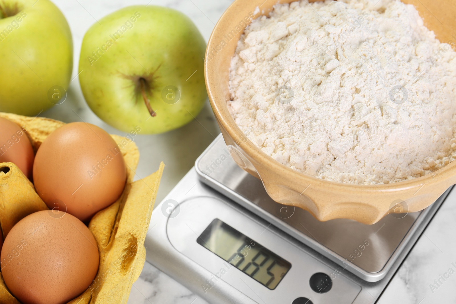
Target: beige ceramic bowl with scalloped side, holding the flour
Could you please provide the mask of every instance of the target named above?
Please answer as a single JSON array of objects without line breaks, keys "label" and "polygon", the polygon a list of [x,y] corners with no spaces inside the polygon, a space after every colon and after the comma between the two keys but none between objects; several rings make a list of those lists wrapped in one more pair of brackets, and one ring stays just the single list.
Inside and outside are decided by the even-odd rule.
[{"label": "beige ceramic bowl with scalloped side, holding the flour", "polygon": [[[228,111],[228,69],[239,37],[251,18],[267,15],[273,5],[293,0],[236,0],[209,39],[205,60],[207,92],[225,143],[236,163],[262,180],[274,201],[293,204],[318,220],[378,222],[391,212],[415,212],[430,206],[456,183],[456,162],[413,180],[382,185],[352,185],[305,175],[273,160],[243,134]],[[456,42],[456,6],[448,0],[404,0],[414,4],[440,41]],[[256,7],[260,12],[254,15]],[[452,43],[452,42],[451,42]]]}]

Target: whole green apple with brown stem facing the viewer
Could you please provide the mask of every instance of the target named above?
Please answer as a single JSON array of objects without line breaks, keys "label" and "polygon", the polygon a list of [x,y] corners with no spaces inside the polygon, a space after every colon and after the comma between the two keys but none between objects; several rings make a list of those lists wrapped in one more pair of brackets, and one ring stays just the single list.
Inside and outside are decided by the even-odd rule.
[{"label": "whole green apple with brown stem facing the viewer", "polygon": [[207,98],[206,43],[193,22],[161,6],[130,6],[84,35],[79,82],[89,107],[124,132],[187,124]]}]

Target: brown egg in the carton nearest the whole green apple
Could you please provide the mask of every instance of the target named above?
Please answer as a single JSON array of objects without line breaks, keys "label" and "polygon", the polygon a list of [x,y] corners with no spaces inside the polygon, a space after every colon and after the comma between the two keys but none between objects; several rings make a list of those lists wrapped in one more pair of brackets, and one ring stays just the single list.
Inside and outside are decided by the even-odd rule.
[{"label": "brown egg in the carton nearest the whole green apple", "polygon": [[93,124],[66,124],[41,144],[33,165],[36,192],[50,209],[81,221],[116,201],[124,190],[125,162],[114,139]]}]

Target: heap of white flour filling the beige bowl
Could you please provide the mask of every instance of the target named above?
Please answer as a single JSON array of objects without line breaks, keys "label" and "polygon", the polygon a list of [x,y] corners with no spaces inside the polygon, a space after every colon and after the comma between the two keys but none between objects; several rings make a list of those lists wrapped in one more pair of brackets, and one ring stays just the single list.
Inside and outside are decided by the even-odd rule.
[{"label": "heap of white flour filling the beige bowl", "polygon": [[399,0],[276,5],[238,42],[229,87],[249,139],[308,175],[391,183],[456,158],[456,52]]}]

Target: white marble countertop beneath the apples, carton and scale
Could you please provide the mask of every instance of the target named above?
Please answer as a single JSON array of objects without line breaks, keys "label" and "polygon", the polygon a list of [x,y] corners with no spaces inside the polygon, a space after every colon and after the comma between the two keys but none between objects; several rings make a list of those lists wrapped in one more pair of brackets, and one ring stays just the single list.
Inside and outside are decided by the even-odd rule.
[{"label": "white marble countertop beneath the apples, carton and scale", "polygon": [[[105,124],[88,108],[78,82],[79,51],[84,33],[105,15],[132,4],[164,5],[188,15],[208,40],[212,28],[232,0],[52,0],[66,16],[73,33],[73,80],[67,100],[40,113],[42,117],[64,122],[85,121],[96,124],[111,134],[126,135]],[[166,169],[156,203],[190,170],[196,158],[219,133],[209,103],[196,120],[166,134],[138,135],[140,149],[137,179],[158,169]],[[456,192],[455,192],[456,193]],[[378,303],[426,304],[456,303],[456,194],[447,200],[425,230],[419,242],[390,282]],[[440,282],[440,283],[439,283]],[[129,304],[204,304],[199,296],[177,283],[149,263],[133,284]]]}]

